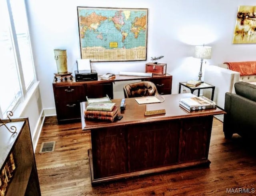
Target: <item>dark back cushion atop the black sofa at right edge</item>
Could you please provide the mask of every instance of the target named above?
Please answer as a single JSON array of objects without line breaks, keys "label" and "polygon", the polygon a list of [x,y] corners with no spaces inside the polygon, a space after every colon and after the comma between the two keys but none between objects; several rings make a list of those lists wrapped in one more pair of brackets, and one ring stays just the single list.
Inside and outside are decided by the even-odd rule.
[{"label": "dark back cushion atop the black sofa at right edge", "polygon": [[236,94],[256,102],[256,85],[247,82],[235,83]]}]

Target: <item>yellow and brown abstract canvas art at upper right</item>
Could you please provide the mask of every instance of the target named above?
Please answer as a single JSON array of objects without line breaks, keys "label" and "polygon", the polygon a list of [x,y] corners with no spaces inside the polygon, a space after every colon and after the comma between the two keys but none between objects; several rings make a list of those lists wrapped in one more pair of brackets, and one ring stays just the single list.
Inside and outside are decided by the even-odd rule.
[{"label": "yellow and brown abstract canvas art at upper right", "polygon": [[239,6],[233,44],[256,43],[256,6]]}]

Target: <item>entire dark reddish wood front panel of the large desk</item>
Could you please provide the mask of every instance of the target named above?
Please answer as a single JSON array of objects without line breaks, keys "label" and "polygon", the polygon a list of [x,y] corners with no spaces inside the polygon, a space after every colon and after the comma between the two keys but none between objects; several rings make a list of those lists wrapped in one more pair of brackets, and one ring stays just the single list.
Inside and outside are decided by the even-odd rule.
[{"label": "entire dark reddish wood front panel of the large desk", "polygon": [[203,116],[92,130],[94,179],[208,162],[211,129]]}]

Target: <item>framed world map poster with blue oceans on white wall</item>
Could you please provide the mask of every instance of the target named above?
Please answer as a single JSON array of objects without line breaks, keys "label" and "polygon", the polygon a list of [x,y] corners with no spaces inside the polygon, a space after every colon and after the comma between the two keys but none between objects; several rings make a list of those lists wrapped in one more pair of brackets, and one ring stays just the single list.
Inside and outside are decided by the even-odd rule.
[{"label": "framed world map poster with blue oceans on white wall", "polygon": [[82,59],[146,60],[148,9],[77,7]]}]

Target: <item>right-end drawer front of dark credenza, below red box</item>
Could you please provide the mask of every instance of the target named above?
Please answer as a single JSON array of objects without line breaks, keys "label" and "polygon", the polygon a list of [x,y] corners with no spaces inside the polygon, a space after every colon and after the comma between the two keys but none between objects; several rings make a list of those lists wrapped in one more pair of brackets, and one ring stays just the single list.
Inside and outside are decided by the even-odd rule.
[{"label": "right-end drawer front of dark credenza, below red box", "polygon": [[172,94],[172,77],[152,78],[149,81],[156,85],[159,94]]}]

